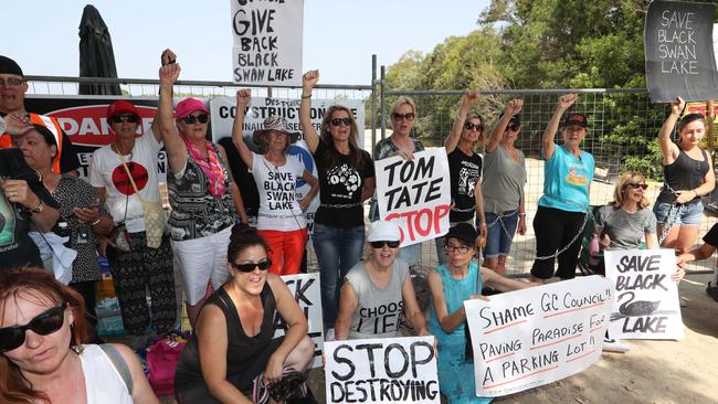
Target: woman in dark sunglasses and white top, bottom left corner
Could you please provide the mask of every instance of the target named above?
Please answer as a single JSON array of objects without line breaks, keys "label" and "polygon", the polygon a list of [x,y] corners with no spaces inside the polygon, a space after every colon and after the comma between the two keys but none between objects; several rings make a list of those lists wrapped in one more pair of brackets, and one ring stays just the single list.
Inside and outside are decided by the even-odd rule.
[{"label": "woman in dark sunglasses and white top, bottom left corner", "polygon": [[0,272],[0,402],[159,403],[137,355],[83,344],[82,296],[39,268]]}]

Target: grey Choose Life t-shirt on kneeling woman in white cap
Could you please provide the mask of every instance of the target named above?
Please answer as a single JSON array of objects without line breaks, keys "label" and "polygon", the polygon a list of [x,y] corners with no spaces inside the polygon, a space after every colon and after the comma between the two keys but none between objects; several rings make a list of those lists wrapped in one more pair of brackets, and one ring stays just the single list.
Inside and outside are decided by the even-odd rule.
[{"label": "grey Choose Life t-shirt on kneeling woman in white cap", "polygon": [[399,333],[399,316],[404,307],[401,287],[409,275],[409,265],[397,258],[391,266],[391,280],[384,288],[371,281],[363,262],[347,274],[345,281],[357,297],[349,339],[391,338]]}]

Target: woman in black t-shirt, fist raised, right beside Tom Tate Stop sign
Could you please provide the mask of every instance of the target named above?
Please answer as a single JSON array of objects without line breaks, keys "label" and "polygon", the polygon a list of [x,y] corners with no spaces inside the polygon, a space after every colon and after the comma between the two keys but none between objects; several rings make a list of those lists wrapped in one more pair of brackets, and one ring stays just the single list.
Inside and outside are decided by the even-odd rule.
[{"label": "woman in black t-shirt, fist raised, right beside Tom Tate Stop sign", "polygon": [[[483,161],[474,150],[476,145],[484,143],[484,118],[477,111],[469,110],[472,104],[475,104],[477,99],[477,91],[464,92],[462,107],[456,113],[452,130],[444,140],[453,202],[448,212],[448,222],[450,226],[458,223],[478,223],[482,236],[486,237],[486,217],[481,181]],[[435,240],[439,264],[446,264],[448,261],[443,251],[444,242],[444,237]]]}]

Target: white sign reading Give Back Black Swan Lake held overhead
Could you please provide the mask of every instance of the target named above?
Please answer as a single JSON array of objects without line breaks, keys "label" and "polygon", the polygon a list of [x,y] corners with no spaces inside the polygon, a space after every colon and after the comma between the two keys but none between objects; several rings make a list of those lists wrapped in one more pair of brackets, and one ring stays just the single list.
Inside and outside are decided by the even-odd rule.
[{"label": "white sign reading Give Back Black Swan Lake held overhead", "polygon": [[233,79],[302,85],[304,0],[231,0]]}]

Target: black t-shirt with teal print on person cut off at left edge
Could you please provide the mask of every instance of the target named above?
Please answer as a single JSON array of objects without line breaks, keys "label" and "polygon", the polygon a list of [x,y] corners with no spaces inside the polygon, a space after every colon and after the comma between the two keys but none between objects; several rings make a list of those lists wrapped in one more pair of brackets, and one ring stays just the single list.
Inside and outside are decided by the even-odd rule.
[{"label": "black t-shirt with teal print on person cut off at left edge", "polygon": [[[20,149],[0,149],[0,179],[25,180],[45,205],[59,208],[38,174],[25,163]],[[8,201],[0,192],[0,269],[24,265],[42,267],[40,251],[28,235],[31,216],[31,212]]]}]

